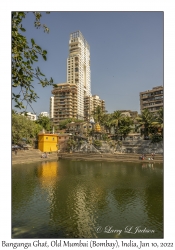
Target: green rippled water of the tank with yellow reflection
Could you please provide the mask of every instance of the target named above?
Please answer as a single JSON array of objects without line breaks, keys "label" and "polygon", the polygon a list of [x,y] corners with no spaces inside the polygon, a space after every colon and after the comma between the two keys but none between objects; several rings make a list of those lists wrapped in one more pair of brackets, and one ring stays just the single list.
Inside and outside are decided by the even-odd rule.
[{"label": "green rippled water of the tank with yellow reflection", "polygon": [[163,238],[163,164],[14,165],[12,238]]}]

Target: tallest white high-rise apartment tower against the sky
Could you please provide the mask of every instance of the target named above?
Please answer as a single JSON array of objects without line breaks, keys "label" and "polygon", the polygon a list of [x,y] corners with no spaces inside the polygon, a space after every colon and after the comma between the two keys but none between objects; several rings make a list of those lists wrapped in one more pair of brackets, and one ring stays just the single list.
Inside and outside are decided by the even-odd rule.
[{"label": "tallest white high-rise apartment tower against the sky", "polygon": [[77,118],[84,119],[84,97],[91,96],[90,47],[80,31],[70,34],[67,83],[77,85]]}]

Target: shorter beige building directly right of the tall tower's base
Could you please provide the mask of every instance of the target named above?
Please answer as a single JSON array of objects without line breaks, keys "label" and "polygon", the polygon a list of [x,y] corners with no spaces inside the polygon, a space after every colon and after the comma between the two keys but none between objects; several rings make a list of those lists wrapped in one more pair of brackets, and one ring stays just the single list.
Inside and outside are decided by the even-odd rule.
[{"label": "shorter beige building directly right of the tall tower's base", "polygon": [[84,118],[90,120],[93,116],[95,109],[100,106],[102,111],[105,112],[105,101],[101,100],[98,95],[84,97]]}]

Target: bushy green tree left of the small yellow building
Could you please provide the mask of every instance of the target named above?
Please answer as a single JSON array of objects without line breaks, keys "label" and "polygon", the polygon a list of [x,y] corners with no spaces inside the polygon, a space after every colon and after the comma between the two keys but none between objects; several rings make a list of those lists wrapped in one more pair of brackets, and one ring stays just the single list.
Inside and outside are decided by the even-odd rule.
[{"label": "bushy green tree left of the small yellow building", "polygon": [[29,120],[26,116],[19,114],[12,114],[12,143],[20,143],[22,138],[26,138],[29,142],[30,139],[35,138],[42,130],[39,124]]}]

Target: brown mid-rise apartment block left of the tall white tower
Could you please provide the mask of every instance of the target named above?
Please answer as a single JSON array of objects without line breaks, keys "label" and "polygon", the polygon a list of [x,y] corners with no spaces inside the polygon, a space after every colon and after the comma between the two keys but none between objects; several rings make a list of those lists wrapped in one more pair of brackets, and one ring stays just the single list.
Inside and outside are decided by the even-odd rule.
[{"label": "brown mid-rise apartment block left of the tall white tower", "polygon": [[68,118],[77,118],[77,85],[70,83],[57,84],[52,90],[54,95],[54,125]]}]

